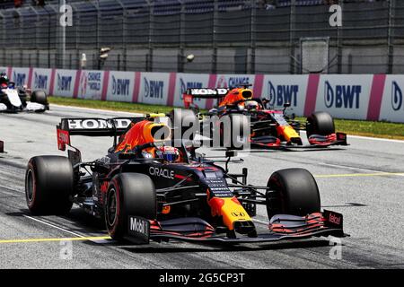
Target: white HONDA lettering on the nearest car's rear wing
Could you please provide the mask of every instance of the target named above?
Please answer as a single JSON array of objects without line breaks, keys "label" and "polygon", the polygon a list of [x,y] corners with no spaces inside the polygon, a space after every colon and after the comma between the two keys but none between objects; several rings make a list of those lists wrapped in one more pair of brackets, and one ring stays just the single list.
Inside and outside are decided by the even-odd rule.
[{"label": "white HONDA lettering on the nearest car's rear wing", "polygon": [[[129,118],[114,118],[115,126],[118,129],[127,128],[132,122]],[[75,129],[105,129],[113,126],[109,121],[102,118],[69,119],[68,126],[70,130]]]}]

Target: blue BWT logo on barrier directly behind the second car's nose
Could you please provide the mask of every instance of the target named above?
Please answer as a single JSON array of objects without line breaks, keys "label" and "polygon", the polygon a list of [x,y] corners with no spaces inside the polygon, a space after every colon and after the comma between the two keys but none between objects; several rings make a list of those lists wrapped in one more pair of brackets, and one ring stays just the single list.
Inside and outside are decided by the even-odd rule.
[{"label": "blue BWT logo on barrier directly behind the second car's nose", "polygon": [[297,106],[297,93],[299,85],[279,84],[274,85],[268,81],[269,104],[271,106],[283,107],[286,102],[289,102],[294,107]]}]

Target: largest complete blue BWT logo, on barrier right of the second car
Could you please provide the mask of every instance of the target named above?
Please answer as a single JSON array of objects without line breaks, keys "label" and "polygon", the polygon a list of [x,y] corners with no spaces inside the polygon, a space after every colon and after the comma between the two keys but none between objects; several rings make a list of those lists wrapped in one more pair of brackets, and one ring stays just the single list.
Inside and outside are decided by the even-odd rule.
[{"label": "largest complete blue BWT logo, on barrier right of the second car", "polygon": [[327,108],[359,109],[359,99],[362,92],[360,85],[335,85],[329,81],[324,86],[324,103]]}]

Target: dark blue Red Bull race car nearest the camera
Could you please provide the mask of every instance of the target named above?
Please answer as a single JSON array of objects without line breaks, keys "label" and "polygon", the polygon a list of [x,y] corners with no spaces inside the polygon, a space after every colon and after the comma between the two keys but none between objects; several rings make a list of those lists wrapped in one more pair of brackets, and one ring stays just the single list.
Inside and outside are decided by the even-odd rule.
[{"label": "dark blue Red Bull race car nearest the camera", "polygon": [[[174,113],[175,115],[175,113]],[[114,136],[106,156],[81,161],[71,135]],[[119,138],[119,140],[118,140]],[[112,239],[264,242],[345,236],[342,215],[321,212],[319,189],[307,170],[278,170],[264,187],[247,184],[248,170],[231,174],[176,140],[158,117],[63,118],[58,148],[68,157],[28,163],[25,194],[34,214],[68,213],[72,204],[104,219]],[[227,151],[227,162],[235,156]],[[252,217],[268,212],[260,233]]]}]

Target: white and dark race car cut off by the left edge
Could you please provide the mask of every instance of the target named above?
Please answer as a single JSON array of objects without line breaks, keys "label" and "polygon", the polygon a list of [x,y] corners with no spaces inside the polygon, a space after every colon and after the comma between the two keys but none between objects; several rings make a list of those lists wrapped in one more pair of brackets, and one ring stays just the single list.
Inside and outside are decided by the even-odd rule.
[{"label": "white and dark race car cut off by the left edge", "polygon": [[49,109],[45,91],[32,91],[26,87],[16,87],[8,81],[5,74],[0,74],[0,111],[44,112]]}]

